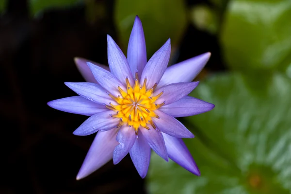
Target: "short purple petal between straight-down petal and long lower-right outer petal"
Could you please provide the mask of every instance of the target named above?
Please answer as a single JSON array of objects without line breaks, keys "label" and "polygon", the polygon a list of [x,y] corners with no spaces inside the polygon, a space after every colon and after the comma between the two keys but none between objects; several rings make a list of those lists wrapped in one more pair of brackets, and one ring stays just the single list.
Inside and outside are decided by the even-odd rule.
[{"label": "short purple petal between straight-down petal and long lower-right outer petal", "polygon": [[163,140],[162,133],[155,129],[145,129],[140,127],[140,131],[144,135],[149,146],[163,159],[168,161],[167,149],[165,141]]}]

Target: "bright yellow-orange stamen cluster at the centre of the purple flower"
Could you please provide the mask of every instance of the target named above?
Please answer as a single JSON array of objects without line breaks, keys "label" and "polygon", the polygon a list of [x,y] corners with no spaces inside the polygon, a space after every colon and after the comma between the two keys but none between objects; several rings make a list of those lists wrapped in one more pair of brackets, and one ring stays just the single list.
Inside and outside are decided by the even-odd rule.
[{"label": "bright yellow-orange stamen cluster at the centre of the purple flower", "polygon": [[140,126],[149,129],[147,126],[149,124],[156,129],[156,126],[152,121],[152,117],[159,118],[159,116],[155,114],[154,110],[163,106],[164,103],[156,104],[155,102],[163,92],[159,93],[157,96],[153,96],[153,92],[157,87],[157,84],[150,89],[146,89],[146,78],[141,86],[138,81],[137,73],[135,73],[134,86],[130,86],[128,78],[126,78],[126,84],[126,91],[118,86],[121,95],[114,97],[112,94],[109,94],[109,96],[116,101],[117,105],[109,103],[110,106],[106,105],[106,107],[116,111],[116,114],[112,116],[120,118],[119,126],[128,124],[135,129],[136,134]]}]

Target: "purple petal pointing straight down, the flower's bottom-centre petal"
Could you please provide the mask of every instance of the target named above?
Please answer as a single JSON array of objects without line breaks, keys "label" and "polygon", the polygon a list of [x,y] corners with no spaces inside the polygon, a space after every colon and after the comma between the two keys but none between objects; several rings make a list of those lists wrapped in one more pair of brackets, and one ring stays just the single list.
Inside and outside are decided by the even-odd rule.
[{"label": "purple petal pointing straight down, the flower's bottom-centre petal", "polygon": [[138,134],[129,154],[138,174],[142,178],[146,177],[151,149],[142,133]]}]

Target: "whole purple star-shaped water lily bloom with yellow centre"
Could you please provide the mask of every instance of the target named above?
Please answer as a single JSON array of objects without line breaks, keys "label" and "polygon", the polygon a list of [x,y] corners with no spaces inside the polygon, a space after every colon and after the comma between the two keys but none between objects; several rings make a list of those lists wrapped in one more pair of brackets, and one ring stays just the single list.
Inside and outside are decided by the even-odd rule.
[{"label": "whole purple star-shaped water lily bloom with yellow centre", "polygon": [[172,159],[191,173],[200,172],[181,138],[194,135],[174,117],[211,110],[214,105],[187,96],[198,82],[192,82],[209,60],[204,53],[167,68],[170,39],[147,61],[146,43],[140,19],[135,18],[127,58],[107,36],[106,66],[76,58],[87,82],[65,85],[78,96],[54,100],[49,106],[65,112],[90,116],[73,134],[97,132],[77,179],[96,171],[109,160],[117,164],[128,153],[139,175],[146,176],[151,149]]}]

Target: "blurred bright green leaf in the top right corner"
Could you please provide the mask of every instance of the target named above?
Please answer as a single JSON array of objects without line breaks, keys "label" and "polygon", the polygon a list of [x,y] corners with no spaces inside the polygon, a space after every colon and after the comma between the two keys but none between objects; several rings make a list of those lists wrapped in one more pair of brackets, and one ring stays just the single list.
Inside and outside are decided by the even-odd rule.
[{"label": "blurred bright green leaf in the top right corner", "polygon": [[232,0],[222,26],[227,65],[286,71],[291,65],[291,0]]}]

